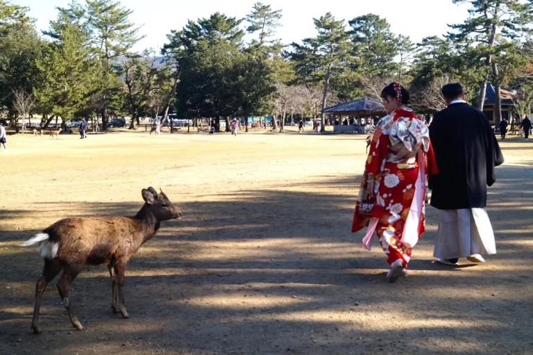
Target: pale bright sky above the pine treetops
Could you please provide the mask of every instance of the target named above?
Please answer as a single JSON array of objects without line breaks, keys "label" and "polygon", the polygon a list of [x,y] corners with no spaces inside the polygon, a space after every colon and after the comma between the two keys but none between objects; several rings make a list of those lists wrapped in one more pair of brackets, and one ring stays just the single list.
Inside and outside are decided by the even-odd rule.
[{"label": "pale bright sky above the pine treetops", "polygon": [[[134,50],[153,48],[156,51],[167,42],[167,33],[179,30],[188,19],[209,17],[217,11],[231,17],[242,18],[250,13],[257,0],[121,0],[122,6],[133,10],[130,19],[142,24],[140,33],[146,37],[139,41]],[[37,30],[49,27],[49,21],[56,19],[56,6],[64,7],[70,0],[12,0],[28,6],[29,15],[37,20]],[[78,0],[83,3],[84,0]],[[385,17],[396,34],[408,35],[413,42],[419,42],[430,35],[443,35],[448,24],[461,23],[468,17],[467,5],[455,5],[452,0],[262,0],[274,10],[282,10],[282,26],[277,37],[285,44],[301,42],[303,38],[316,35],[313,17],[327,12],[337,19],[350,19],[367,13]]]}]

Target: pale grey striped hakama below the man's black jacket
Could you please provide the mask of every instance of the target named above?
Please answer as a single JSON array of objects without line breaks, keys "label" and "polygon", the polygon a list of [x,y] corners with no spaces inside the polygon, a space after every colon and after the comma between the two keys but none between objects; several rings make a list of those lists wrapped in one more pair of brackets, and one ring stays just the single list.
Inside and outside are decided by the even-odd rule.
[{"label": "pale grey striped hakama below the man's black jacket", "polygon": [[491,221],[485,208],[442,210],[433,256],[466,258],[471,254],[496,254]]}]

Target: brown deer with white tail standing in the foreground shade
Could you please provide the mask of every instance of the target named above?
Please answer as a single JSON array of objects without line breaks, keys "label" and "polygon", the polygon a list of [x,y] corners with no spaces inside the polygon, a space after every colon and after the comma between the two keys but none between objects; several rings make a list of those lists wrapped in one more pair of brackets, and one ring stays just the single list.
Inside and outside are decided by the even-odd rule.
[{"label": "brown deer with white tail standing in the foreground shade", "polygon": [[37,252],[44,259],[44,270],[35,286],[35,308],[31,329],[40,334],[39,311],[46,288],[61,270],[58,291],[72,326],[78,321],[69,298],[71,283],[85,265],[108,265],[111,277],[113,313],[129,318],[124,306],[124,272],[126,263],[139,247],[155,236],[162,221],[181,219],[181,211],[161,190],[142,189],[144,205],[134,217],[70,217],[52,224],[24,242],[21,247],[39,243]]}]

